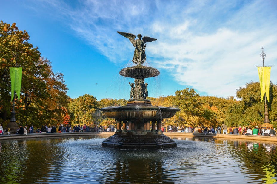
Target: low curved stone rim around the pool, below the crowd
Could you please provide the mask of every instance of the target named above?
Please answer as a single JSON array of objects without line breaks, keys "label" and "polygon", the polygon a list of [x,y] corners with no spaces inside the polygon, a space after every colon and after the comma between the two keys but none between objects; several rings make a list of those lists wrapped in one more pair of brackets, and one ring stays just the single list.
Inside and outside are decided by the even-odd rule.
[{"label": "low curved stone rim around the pool, below the crowd", "polygon": [[[10,134],[0,135],[0,140],[5,139],[22,139],[22,138],[43,138],[43,137],[70,137],[70,136],[111,136],[114,132],[80,132],[80,133],[32,133],[27,135]],[[213,137],[213,138],[231,138],[231,139],[244,139],[244,140],[261,140],[261,141],[276,141],[277,137],[259,136],[259,135],[234,135],[234,134],[203,134],[203,133],[173,133],[164,132],[164,135],[169,137]]]}]

